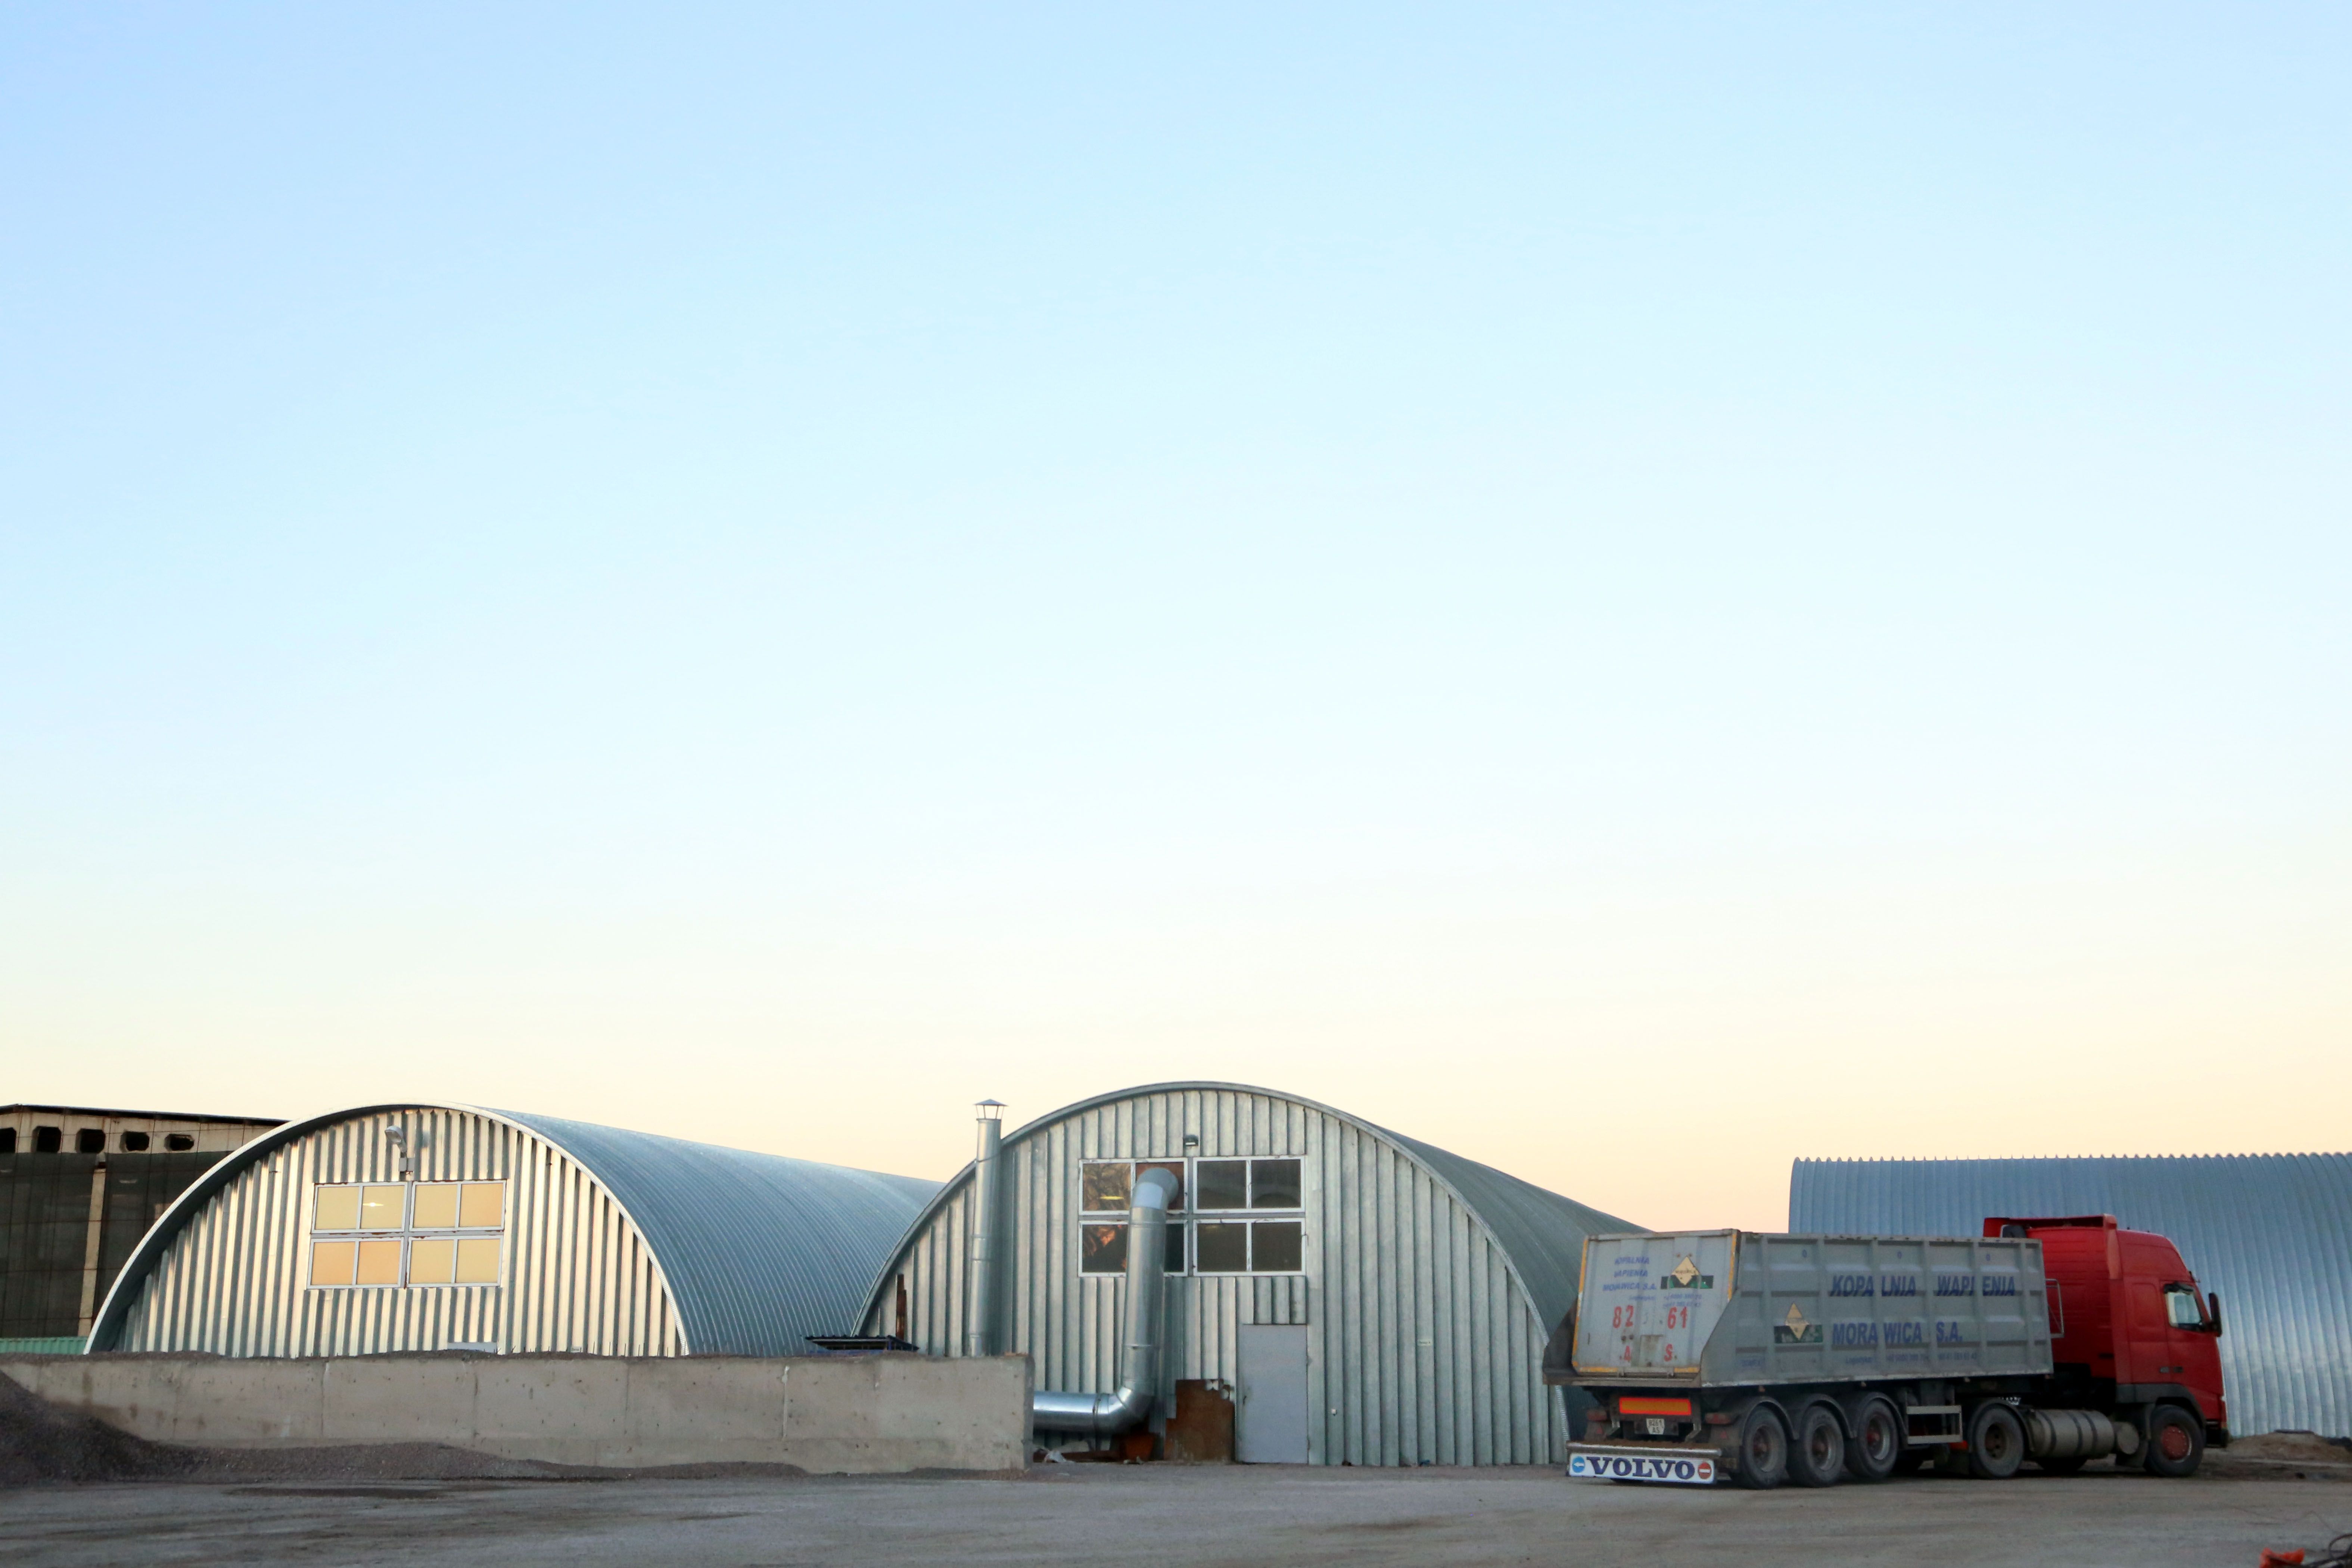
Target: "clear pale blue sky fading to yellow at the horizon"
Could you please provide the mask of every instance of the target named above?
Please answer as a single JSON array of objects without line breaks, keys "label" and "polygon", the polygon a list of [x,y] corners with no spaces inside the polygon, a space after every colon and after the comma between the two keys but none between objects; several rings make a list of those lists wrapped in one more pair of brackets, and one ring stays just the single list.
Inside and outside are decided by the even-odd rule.
[{"label": "clear pale blue sky fading to yellow at the horizon", "polygon": [[2345,1147],[2352,12],[16,5],[0,1098]]}]

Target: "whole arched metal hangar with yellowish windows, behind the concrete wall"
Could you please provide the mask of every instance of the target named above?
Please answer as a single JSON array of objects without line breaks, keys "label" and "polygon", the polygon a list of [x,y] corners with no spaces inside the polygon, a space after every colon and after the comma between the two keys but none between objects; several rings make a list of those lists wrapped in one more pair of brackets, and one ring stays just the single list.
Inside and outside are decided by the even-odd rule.
[{"label": "whole arched metal hangar with yellowish windows, behind the concrete wall", "polygon": [[341,1110],[188,1187],[89,1349],[804,1354],[934,1192],[524,1112]]}]

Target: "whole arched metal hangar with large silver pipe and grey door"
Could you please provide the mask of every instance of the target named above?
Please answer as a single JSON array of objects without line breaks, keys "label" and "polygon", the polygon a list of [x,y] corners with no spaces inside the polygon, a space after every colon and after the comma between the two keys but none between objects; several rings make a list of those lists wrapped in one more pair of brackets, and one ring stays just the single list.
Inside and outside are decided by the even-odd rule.
[{"label": "whole arched metal hangar with large silver pipe and grey door", "polygon": [[1200,1380],[1232,1389],[1244,1460],[1559,1458],[1543,1347],[1585,1237],[1637,1225],[1242,1084],[1127,1088],[1016,1133],[990,1114],[875,1276],[866,1333],[1030,1354],[1040,1441],[1160,1432]]}]

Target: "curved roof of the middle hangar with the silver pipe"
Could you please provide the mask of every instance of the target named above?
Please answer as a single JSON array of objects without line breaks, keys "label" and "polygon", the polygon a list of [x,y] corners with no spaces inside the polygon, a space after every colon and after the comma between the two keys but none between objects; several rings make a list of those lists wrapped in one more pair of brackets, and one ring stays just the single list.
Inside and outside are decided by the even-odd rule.
[{"label": "curved roof of the middle hangar with the silver pipe", "polygon": [[[1475,1213],[1489,1232],[1494,1232],[1496,1246],[1510,1258],[1510,1267],[1519,1274],[1526,1286],[1529,1300],[1534,1300],[1538,1316],[1545,1328],[1555,1326],[1566,1316],[1569,1307],[1576,1305],[1576,1274],[1583,1267],[1585,1237],[1599,1234],[1625,1234],[1639,1232],[1642,1225],[1630,1220],[1618,1220],[1597,1208],[1585,1208],[1576,1199],[1564,1199],[1557,1192],[1524,1182],[1517,1175],[1505,1175],[1494,1166],[1482,1166],[1475,1159],[1463,1159],[1439,1150],[1437,1145],[1421,1143],[1418,1138],[1406,1138],[1404,1133],[1392,1133],[1385,1126],[1352,1117],[1322,1100],[1310,1100],[1305,1095],[1282,1093],[1279,1088],[1258,1088],[1256,1084],[1225,1084],[1218,1079],[1181,1079],[1174,1084],[1138,1084],[1134,1088],[1112,1088],[1108,1093],[1089,1095],[1061,1110],[1047,1112],[1035,1121],[1023,1121],[1011,1133],[1004,1133],[1007,1147],[1030,1138],[1056,1121],[1068,1121],[1096,1105],[1110,1105],[1115,1100],[1127,1100],[1134,1095],[1157,1095],[1157,1093],[1244,1093],[1265,1095],[1268,1100],[1289,1100],[1294,1105],[1305,1105],[1327,1117],[1338,1117],[1374,1138],[1385,1138],[1397,1145],[1409,1159],[1416,1159],[1437,1182],[1454,1190],[1463,1206]],[[941,1208],[957,1187],[971,1180],[971,1166],[967,1164],[957,1171],[934,1197],[924,1204],[915,1222],[906,1227],[913,1237],[922,1225],[931,1220],[931,1213]],[[882,1300],[884,1291],[891,1286],[889,1267],[898,1255],[891,1248],[873,1279],[873,1288],[866,1293],[868,1312],[873,1312]]]}]

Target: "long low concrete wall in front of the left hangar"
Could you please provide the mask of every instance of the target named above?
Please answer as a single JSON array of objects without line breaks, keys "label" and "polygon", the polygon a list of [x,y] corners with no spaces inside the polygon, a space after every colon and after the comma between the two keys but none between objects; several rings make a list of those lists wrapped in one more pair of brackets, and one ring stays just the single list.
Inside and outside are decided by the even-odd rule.
[{"label": "long low concrete wall in front of the left hangar", "polygon": [[202,1448],[449,1443],[553,1465],[1021,1469],[1028,1356],[0,1356],[134,1436]]}]

